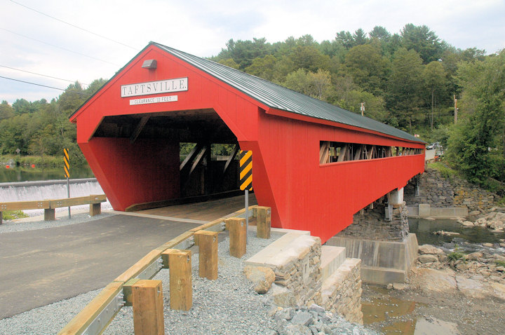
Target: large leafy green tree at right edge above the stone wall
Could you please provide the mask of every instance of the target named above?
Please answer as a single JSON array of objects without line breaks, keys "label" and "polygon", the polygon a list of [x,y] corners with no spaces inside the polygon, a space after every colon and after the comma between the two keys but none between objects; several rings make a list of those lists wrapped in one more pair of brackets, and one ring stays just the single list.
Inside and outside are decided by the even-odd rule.
[{"label": "large leafy green tree at right edge above the stone wall", "polygon": [[449,138],[449,157],[471,182],[505,182],[505,50],[458,69],[462,118]]}]

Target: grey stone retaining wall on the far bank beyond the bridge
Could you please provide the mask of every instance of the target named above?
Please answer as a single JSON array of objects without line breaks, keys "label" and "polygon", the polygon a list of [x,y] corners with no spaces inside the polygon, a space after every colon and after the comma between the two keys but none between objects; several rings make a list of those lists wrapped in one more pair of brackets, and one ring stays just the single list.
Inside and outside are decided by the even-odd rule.
[{"label": "grey stone retaining wall on the far bank beyond the bridge", "polygon": [[426,169],[419,176],[419,196],[415,194],[415,180],[405,186],[405,202],[408,205],[428,204],[431,207],[467,207],[487,210],[493,207],[494,194],[480,189],[459,177],[446,179],[435,169]]}]

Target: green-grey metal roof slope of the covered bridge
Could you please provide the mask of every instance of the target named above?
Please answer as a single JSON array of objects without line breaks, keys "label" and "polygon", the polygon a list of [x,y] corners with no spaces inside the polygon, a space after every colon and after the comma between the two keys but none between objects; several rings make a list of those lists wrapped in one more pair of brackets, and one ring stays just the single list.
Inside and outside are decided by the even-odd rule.
[{"label": "green-grey metal roof slope of the covered bridge", "polygon": [[386,135],[400,137],[409,141],[423,142],[403,130],[393,128],[390,125],[372,120],[372,118],[367,118],[366,116],[361,116],[360,114],[328,104],[328,102],[323,102],[313,97],[303,95],[302,93],[297,93],[294,90],[271,83],[257,76],[246,74],[245,72],[227,67],[223,64],[190,55],[189,53],[184,53],[159,43],[150,42],[149,44],[153,44],[165,50],[167,53],[180,58],[184,62],[205,71],[211,76],[253,97],[255,100],[262,102],[262,104],[268,107],[312,118],[354,125],[358,128],[375,130]]}]

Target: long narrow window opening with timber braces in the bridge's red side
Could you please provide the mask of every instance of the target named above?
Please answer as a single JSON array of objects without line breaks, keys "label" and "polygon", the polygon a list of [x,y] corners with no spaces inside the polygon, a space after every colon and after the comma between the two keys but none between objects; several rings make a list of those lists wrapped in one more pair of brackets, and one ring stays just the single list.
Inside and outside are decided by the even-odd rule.
[{"label": "long narrow window opening with timber braces in the bridge's red side", "polygon": [[420,153],[422,153],[422,149],[404,148],[401,146],[321,141],[319,146],[319,163],[328,164],[347,160],[376,159],[417,155]]}]

